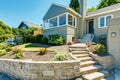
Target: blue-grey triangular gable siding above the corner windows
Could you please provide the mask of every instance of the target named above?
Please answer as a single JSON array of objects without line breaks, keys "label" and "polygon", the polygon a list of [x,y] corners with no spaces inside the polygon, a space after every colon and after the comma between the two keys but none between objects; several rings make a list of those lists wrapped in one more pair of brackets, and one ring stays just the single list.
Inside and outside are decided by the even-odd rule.
[{"label": "blue-grey triangular gable siding above the corner windows", "polygon": [[53,5],[51,5],[50,9],[44,16],[43,20],[47,20],[49,18],[55,17],[57,15],[65,13],[65,12],[67,12],[66,8],[53,4]]}]

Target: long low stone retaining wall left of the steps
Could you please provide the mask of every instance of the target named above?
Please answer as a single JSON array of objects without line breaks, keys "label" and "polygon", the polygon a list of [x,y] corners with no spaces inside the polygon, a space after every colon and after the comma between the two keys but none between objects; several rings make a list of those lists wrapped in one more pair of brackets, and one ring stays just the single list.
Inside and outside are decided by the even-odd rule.
[{"label": "long low stone retaining wall left of the steps", "polygon": [[0,71],[22,80],[69,80],[80,76],[79,61],[34,62],[0,59]]}]

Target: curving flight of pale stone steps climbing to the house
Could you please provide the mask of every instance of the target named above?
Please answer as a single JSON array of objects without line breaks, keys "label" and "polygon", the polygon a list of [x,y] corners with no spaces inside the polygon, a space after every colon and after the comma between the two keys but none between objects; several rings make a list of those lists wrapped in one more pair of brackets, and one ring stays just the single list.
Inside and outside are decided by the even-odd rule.
[{"label": "curving flight of pale stone steps climbing to the house", "polygon": [[76,44],[69,47],[72,56],[80,60],[81,79],[76,80],[102,80],[109,75],[108,71],[103,70],[89,55],[88,48],[85,44]]}]

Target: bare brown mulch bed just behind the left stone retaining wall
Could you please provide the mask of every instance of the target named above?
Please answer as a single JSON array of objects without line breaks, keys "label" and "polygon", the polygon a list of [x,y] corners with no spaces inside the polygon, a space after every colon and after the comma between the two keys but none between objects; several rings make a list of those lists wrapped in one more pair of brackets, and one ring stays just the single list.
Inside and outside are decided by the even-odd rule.
[{"label": "bare brown mulch bed just behind the left stone retaining wall", "polygon": [[[33,60],[33,61],[49,61],[56,55],[55,52],[47,52],[45,55],[39,55],[37,51],[23,51],[25,56],[20,58],[21,60]],[[9,54],[3,55],[0,58],[16,59],[15,55],[10,52]]]}]

